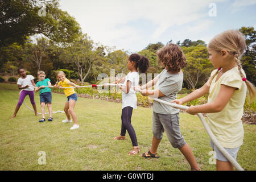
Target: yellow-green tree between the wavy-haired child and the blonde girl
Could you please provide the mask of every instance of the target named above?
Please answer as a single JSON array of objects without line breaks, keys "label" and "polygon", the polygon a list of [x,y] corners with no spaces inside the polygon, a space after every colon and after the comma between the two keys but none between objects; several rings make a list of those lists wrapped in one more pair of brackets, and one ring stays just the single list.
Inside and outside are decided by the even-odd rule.
[{"label": "yellow-green tree between the wavy-haired child and the blonde girl", "polygon": [[196,86],[203,84],[209,78],[213,70],[212,63],[208,60],[208,50],[206,46],[197,45],[192,47],[181,47],[185,53],[187,66],[183,69],[184,81],[187,82],[189,89],[195,90]]}]

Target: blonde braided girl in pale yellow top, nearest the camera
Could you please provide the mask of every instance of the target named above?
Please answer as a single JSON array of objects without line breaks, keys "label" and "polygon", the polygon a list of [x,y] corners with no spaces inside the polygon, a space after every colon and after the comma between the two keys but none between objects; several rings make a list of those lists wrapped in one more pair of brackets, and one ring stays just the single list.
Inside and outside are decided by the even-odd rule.
[{"label": "blonde braided girl in pale yellow top, nearest the camera", "polygon": [[[208,45],[209,60],[215,69],[209,80],[200,89],[193,91],[186,97],[174,100],[176,104],[195,100],[209,93],[208,103],[191,106],[187,113],[209,113],[208,124],[218,142],[233,156],[243,143],[242,114],[246,97],[246,85],[250,99],[255,97],[252,84],[246,80],[240,57],[245,50],[245,39],[241,32],[229,30],[222,32],[210,40]],[[217,170],[233,170],[233,165],[210,141],[210,146],[216,152]]]}]

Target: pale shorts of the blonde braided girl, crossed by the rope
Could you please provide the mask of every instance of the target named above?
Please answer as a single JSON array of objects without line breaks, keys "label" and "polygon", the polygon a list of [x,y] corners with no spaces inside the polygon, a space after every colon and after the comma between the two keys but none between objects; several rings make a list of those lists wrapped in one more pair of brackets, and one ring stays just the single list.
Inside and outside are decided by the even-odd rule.
[{"label": "pale shorts of the blonde braided girl, crossed by the rope", "polygon": [[[228,159],[226,159],[226,157],[221,153],[220,150],[218,150],[217,146],[214,145],[214,143],[212,142],[212,140],[210,140],[210,146],[213,148],[214,150],[214,158],[221,160],[223,162],[227,162]],[[239,151],[240,147],[237,148],[225,148],[225,150],[232,156],[232,158],[234,158],[235,160],[237,160],[237,153]]]}]

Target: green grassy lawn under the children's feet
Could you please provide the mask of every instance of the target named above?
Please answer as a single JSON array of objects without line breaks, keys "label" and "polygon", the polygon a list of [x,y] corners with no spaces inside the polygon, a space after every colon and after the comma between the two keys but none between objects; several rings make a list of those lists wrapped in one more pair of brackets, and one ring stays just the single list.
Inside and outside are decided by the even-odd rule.
[{"label": "green grassy lawn under the children's feet", "polygon": [[[14,119],[19,98],[16,84],[0,84],[0,170],[189,170],[189,164],[178,149],[171,146],[166,134],[160,143],[159,159],[129,156],[131,140],[113,140],[121,131],[122,104],[80,98],[75,111],[80,128],[69,130],[73,123],[62,123],[65,114],[53,114],[53,122],[39,123],[41,118],[24,104]],[[52,93],[53,111],[63,110],[66,97]],[[29,98],[25,99],[31,106]],[[39,93],[35,101],[40,111]],[[48,112],[48,110],[47,110]],[[48,117],[48,115],[46,115]],[[152,109],[138,107],[132,123],[141,153],[152,140]],[[202,170],[215,170],[209,164],[209,137],[197,116],[180,113],[181,134],[192,148]],[[237,162],[247,170],[256,170],[256,126],[243,125],[245,138]],[[39,151],[46,152],[46,164],[39,165]]]}]

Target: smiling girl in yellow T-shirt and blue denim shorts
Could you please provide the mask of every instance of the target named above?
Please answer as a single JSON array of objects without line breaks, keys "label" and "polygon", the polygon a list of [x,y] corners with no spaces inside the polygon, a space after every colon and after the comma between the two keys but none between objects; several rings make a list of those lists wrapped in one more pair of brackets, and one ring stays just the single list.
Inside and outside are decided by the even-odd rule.
[{"label": "smiling girl in yellow T-shirt and blue denim shorts", "polygon": [[[56,84],[54,85],[54,88],[63,88],[63,87],[72,87],[75,86],[76,88],[79,87],[78,85],[74,84],[73,82],[69,81],[66,78],[66,75],[63,71],[57,72],[57,81]],[[77,124],[77,116],[74,111],[76,101],[77,101],[77,94],[73,88],[70,89],[64,89],[65,96],[68,98],[64,111],[65,114],[67,115],[67,119],[63,120],[62,122],[67,123],[67,122],[72,122],[72,119],[70,118],[70,115],[73,118],[74,125],[70,128],[71,130],[75,130],[79,128],[79,125]]]}]

